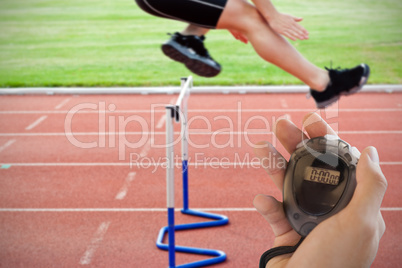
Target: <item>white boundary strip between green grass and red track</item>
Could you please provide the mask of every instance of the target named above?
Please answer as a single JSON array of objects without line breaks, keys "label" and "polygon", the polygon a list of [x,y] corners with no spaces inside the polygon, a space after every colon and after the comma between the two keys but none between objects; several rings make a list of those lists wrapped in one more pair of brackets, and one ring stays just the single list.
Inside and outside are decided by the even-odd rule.
[{"label": "white boundary strip between green grass and red track", "polygon": [[[177,94],[180,87],[34,87],[0,88],[0,95],[58,95],[58,94]],[[247,94],[247,93],[307,93],[307,86],[199,86],[191,94]],[[366,85],[362,92],[402,92],[402,85]]]}]

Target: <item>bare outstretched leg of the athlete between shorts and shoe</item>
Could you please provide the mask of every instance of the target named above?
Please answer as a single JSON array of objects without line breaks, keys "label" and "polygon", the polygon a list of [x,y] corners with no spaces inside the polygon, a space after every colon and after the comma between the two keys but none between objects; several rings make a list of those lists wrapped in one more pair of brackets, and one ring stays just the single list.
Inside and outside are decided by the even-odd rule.
[{"label": "bare outstretched leg of the athlete between shorts and shoe", "polygon": [[312,64],[272,30],[256,7],[247,1],[228,0],[217,28],[241,32],[264,60],[299,78],[310,88],[323,91],[328,85],[328,72]]}]

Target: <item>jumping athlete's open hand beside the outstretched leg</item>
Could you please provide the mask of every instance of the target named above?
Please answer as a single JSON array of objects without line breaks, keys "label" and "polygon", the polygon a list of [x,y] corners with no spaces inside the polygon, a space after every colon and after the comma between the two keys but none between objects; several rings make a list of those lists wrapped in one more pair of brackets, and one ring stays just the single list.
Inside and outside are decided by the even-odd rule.
[{"label": "jumping athlete's open hand beside the outstretched leg", "polygon": [[309,33],[299,24],[302,20],[303,18],[278,12],[269,18],[268,23],[275,32],[293,41],[306,40],[309,37]]}]

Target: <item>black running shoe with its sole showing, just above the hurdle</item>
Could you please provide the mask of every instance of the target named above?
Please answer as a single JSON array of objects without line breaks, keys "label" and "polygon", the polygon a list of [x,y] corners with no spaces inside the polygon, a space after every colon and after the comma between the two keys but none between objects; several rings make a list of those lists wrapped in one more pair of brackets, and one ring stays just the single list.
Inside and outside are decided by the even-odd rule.
[{"label": "black running shoe with its sole showing, just above the hurdle", "polygon": [[214,61],[204,47],[205,36],[170,34],[172,37],[162,45],[163,53],[172,60],[186,65],[193,73],[214,77],[221,71],[219,63]]}]

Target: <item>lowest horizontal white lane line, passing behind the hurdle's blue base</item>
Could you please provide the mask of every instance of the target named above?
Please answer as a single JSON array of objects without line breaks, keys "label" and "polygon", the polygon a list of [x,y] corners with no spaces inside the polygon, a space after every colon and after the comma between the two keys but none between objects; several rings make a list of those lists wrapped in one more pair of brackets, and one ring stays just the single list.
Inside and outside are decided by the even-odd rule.
[{"label": "lowest horizontal white lane line, passing behind the hurdle's blue base", "polygon": [[[233,211],[233,212],[256,212],[255,208],[192,208],[201,211]],[[176,208],[176,212],[180,212],[181,208]],[[381,211],[402,211],[402,207],[382,207]],[[0,208],[1,212],[166,212],[166,208]]]}]

